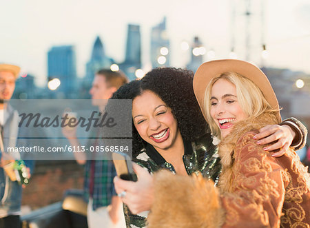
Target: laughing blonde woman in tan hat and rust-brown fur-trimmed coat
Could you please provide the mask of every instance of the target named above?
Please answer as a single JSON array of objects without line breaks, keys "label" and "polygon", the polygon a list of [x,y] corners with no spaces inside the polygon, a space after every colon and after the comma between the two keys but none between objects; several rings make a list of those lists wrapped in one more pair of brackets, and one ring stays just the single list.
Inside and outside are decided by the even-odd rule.
[{"label": "laughing blonde woman in tan hat and rust-brown fur-trimmed coat", "polygon": [[218,189],[211,180],[154,176],[152,227],[310,227],[310,178],[293,149],[273,158],[258,129],[281,121],[278,100],[259,68],[238,60],[204,63],[194,92],[220,139]]}]

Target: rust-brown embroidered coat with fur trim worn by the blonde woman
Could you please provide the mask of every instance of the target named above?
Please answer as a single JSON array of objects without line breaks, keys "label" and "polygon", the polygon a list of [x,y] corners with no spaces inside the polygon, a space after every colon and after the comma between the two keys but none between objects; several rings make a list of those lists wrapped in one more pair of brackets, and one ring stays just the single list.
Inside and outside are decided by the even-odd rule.
[{"label": "rust-brown embroidered coat with fur trim worn by the blonde woman", "polygon": [[293,149],[273,158],[254,140],[258,129],[275,123],[272,114],[239,122],[218,145],[219,191],[204,178],[154,175],[149,228],[310,227],[307,168]]}]

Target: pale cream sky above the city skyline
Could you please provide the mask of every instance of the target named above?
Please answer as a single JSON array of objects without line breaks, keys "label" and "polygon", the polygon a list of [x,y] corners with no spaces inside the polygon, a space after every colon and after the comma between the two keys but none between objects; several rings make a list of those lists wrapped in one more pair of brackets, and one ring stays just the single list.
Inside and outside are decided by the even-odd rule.
[{"label": "pale cream sky above the city skyline", "polygon": [[[92,45],[99,35],[105,54],[125,58],[127,24],[141,25],[142,61],[149,68],[150,32],[167,17],[171,65],[184,67],[189,52],[182,41],[199,37],[215,59],[229,56],[234,43],[245,59],[245,0],[1,0],[0,63],[20,65],[44,85],[47,52],[53,45],[75,45],[78,76],[85,75]],[[310,1],[251,0],[251,61],[274,68],[310,73]],[[260,8],[264,8],[261,17]],[[235,14],[235,17],[231,15]],[[268,57],[260,58],[262,43]],[[205,61],[207,55],[205,56]]]}]

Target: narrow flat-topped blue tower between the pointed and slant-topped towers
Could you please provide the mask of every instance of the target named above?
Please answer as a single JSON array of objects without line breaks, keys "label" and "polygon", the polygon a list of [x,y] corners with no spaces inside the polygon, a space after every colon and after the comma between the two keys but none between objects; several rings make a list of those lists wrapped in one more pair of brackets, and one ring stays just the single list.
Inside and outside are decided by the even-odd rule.
[{"label": "narrow flat-topped blue tower between the pointed and slant-topped towers", "polygon": [[135,72],[141,68],[140,25],[128,25],[125,61],[120,68],[130,80],[136,79]]}]

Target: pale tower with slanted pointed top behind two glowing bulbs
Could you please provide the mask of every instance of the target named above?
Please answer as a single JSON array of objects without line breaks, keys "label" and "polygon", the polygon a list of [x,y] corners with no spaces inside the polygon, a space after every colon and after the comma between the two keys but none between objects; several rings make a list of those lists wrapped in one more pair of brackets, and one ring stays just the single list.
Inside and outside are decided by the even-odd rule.
[{"label": "pale tower with slanted pointed top behind two glowing bulbs", "polygon": [[[161,59],[158,59],[160,57]],[[170,42],[166,32],[166,17],[161,23],[152,28],[151,62],[153,68],[170,65]]]}]

